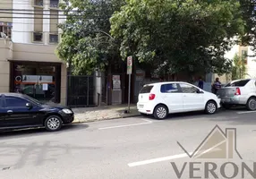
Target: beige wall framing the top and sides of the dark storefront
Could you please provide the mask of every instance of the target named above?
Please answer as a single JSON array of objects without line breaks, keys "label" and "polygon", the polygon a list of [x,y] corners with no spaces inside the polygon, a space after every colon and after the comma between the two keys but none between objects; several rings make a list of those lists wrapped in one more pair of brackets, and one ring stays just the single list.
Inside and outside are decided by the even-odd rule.
[{"label": "beige wall framing the top and sides of the dark storefront", "polygon": [[53,62],[62,64],[61,70],[61,104],[66,102],[66,65],[55,55],[54,46],[13,44],[10,40],[0,38],[0,92],[9,92],[10,63],[15,61]]}]

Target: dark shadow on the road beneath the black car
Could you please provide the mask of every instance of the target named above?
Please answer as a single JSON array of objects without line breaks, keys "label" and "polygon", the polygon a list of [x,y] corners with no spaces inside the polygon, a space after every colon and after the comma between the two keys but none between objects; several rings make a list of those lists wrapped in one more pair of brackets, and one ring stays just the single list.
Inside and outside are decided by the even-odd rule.
[{"label": "dark shadow on the road beneath the black car", "polygon": [[22,129],[22,130],[13,130],[13,131],[2,131],[0,132],[0,140],[5,137],[34,137],[37,135],[49,135],[49,134],[59,134],[63,132],[73,132],[78,130],[84,130],[88,128],[87,124],[68,124],[64,125],[60,131],[57,132],[47,132],[45,128],[34,128],[34,129]]}]

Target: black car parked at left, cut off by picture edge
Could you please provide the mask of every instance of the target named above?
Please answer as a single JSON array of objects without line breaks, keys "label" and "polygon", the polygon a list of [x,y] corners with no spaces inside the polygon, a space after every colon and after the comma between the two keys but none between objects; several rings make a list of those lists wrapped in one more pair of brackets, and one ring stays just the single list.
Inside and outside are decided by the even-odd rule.
[{"label": "black car parked at left, cut off by picture edge", "polygon": [[19,93],[0,94],[0,130],[45,127],[55,132],[63,124],[72,123],[73,118],[68,107],[44,105]]}]

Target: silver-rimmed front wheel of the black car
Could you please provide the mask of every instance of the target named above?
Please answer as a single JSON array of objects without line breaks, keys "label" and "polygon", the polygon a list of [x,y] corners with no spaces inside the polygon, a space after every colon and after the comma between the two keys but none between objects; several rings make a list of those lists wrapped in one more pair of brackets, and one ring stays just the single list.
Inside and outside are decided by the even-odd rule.
[{"label": "silver-rimmed front wheel of the black car", "polygon": [[62,128],[63,121],[57,115],[50,115],[45,121],[45,127],[48,132],[56,132]]}]

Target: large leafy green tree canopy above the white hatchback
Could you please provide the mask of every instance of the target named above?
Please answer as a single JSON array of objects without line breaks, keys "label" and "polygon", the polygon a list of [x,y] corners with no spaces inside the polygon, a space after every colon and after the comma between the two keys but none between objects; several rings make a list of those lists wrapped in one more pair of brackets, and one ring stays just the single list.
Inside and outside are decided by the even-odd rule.
[{"label": "large leafy green tree canopy above the white hatchback", "polygon": [[[243,35],[244,21],[236,0],[127,0],[111,18],[111,34],[121,41],[123,59],[159,72],[229,72],[224,55]],[[153,68],[152,68],[153,69]]]}]

